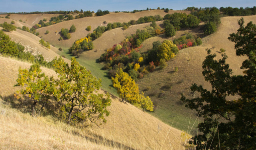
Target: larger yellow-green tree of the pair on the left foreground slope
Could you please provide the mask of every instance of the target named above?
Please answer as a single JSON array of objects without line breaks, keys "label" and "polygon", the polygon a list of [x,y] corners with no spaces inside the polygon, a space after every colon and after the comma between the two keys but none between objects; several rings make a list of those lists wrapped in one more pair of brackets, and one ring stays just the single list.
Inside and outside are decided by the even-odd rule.
[{"label": "larger yellow-green tree of the pair on the left foreground slope", "polygon": [[83,122],[86,119],[96,124],[98,120],[105,123],[105,116],[109,115],[106,107],[111,100],[109,94],[98,93],[101,80],[91,75],[74,57],[71,58],[70,66],[61,57],[54,60],[54,66],[58,73],[55,97],[61,102],[63,118],[68,123]]}]

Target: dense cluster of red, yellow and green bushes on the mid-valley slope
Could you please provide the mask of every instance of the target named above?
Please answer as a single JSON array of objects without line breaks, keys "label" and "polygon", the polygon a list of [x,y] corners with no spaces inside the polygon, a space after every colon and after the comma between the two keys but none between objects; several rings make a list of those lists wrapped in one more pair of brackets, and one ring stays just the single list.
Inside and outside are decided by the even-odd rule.
[{"label": "dense cluster of red, yellow and green bushes on the mid-valley slope", "polygon": [[[109,76],[115,76],[116,71],[121,68],[133,79],[142,78],[145,74],[153,72],[156,66],[166,66],[165,61],[175,57],[178,47],[170,40],[153,43],[153,49],[147,53],[140,53],[133,44],[134,37],[126,38],[121,43],[113,45],[100,56],[100,61],[105,61],[103,67],[108,69]],[[162,67],[162,68],[163,68]]]}]

